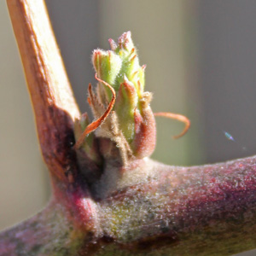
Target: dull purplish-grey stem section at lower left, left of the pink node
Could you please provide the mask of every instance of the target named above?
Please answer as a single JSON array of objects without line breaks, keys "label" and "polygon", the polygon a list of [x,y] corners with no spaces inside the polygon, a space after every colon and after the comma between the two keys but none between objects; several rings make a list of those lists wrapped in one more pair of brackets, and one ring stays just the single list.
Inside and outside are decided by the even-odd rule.
[{"label": "dull purplish-grey stem section at lower left, left of the pink node", "polygon": [[51,201],[44,211],[0,234],[0,255],[78,255],[93,237],[67,216],[59,201]]}]

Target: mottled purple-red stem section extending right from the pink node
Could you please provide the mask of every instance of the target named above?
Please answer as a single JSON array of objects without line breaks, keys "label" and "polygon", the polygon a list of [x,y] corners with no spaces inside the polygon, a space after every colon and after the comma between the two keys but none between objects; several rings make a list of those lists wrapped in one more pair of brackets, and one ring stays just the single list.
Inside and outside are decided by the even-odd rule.
[{"label": "mottled purple-red stem section extending right from the pink node", "polygon": [[148,160],[141,167],[125,177],[134,179],[129,186],[105,189],[102,230],[116,243],[96,255],[210,256],[256,247],[256,156],[193,167]]}]

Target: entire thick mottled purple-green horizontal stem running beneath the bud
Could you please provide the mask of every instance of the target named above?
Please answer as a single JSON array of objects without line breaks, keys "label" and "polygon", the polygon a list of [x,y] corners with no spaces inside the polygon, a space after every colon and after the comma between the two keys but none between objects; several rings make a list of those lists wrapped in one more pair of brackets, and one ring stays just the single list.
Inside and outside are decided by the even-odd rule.
[{"label": "entire thick mottled purple-green horizontal stem running beneath the bud", "polygon": [[[213,256],[230,255],[256,247],[255,156],[193,167],[165,166],[144,160],[126,171],[131,171],[125,175],[131,175],[132,182],[131,177],[121,177],[123,181],[116,185],[119,189],[115,192],[109,192],[106,184],[107,196],[91,205],[96,206],[95,226],[100,231],[99,236],[92,237],[90,231],[74,228],[78,224],[67,217],[73,214],[65,210],[73,207],[63,207],[74,201],[84,202],[84,195],[67,193],[67,201],[64,202],[61,193],[61,200],[54,202],[56,218],[41,218],[48,216],[44,213],[48,210],[44,210],[35,217],[36,221],[32,218],[6,231],[0,237],[0,252],[9,248],[7,255],[15,255],[15,250],[20,250],[20,241],[23,241],[24,247],[29,243],[23,252],[34,255],[30,254],[31,245],[37,248],[41,234],[46,240],[39,242],[41,251],[38,252],[44,252],[44,242],[49,239],[47,248],[52,251],[62,247],[67,249],[66,244],[70,245],[73,254],[68,255]],[[84,204],[80,204],[79,212],[83,207]],[[96,217],[96,212],[92,216]],[[81,219],[77,218],[77,222]],[[69,225],[70,232],[65,224]],[[51,229],[54,236],[50,235]],[[65,236],[61,235],[61,229]],[[72,236],[73,232],[79,235]],[[21,238],[20,234],[24,237]],[[15,239],[16,236],[19,239]],[[61,245],[55,243],[59,239]],[[73,247],[76,241],[79,246]],[[90,254],[92,251],[95,254]],[[59,255],[66,254],[63,251]]]}]

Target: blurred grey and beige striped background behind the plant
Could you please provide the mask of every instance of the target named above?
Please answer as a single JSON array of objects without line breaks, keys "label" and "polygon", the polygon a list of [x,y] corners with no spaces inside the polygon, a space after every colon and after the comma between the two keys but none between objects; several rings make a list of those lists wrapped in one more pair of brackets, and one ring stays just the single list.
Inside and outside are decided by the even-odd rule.
[{"label": "blurred grey and beige striped background behind the plant", "polygon": [[[87,86],[96,84],[92,50],[109,49],[108,38],[116,40],[130,30],[140,62],[147,64],[146,90],[154,92],[154,112],[182,113],[191,120],[189,133],[172,140],[183,124],[157,119],[154,160],[191,166],[256,153],[255,1],[46,3],[83,112],[90,112]],[[0,229],[4,229],[44,207],[50,185],[4,1],[0,34]]]}]

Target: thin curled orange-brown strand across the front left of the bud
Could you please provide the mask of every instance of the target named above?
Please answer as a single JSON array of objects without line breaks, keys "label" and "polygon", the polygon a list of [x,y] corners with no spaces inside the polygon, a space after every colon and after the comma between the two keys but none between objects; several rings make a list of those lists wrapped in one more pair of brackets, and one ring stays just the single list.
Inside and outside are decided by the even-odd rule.
[{"label": "thin curled orange-brown strand across the front left of the bud", "polygon": [[[90,134],[90,132],[95,131],[100,125],[102,125],[102,123],[105,121],[105,119],[107,119],[108,114],[109,114],[110,111],[112,110],[113,104],[114,104],[114,102],[115,102],[116,96],[115,96],[115,91],[113,90],[113,87],[112,87],[110,84],[108,84],[107,82],[103,81],[102,79],[97,78],[96,74],[95,74],[95,78],[96,78],[96,80],[98,80],[98,81],[101,82],[102,84],[108,86],[108,88],[111,90],[113,96],[112,96],[111,101],[110,101],[109,104],[108,104],[108,108],[107,108],[106,111],[102,114],[102,116],[101,116],[99,119],[96,119],[96,121],[90,123],[90,125],[88,125],[88,126],[86,127],[86,129],[83,131],[83,133],[80,135],[78,141],[77,141],[77,142],[75,143],[75,145],[74,145],[74,148],[75,148],[75,149],[78,149],[78,148],[82,145],[82,143],[84,142],[84,138],[85,138],[88,134]],[[89,93],[91,94],[91,84],[89,84],[88,90],[89,90]]]}]

